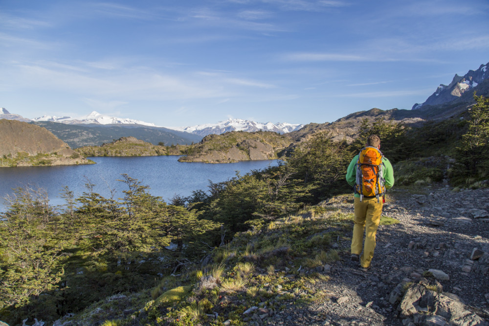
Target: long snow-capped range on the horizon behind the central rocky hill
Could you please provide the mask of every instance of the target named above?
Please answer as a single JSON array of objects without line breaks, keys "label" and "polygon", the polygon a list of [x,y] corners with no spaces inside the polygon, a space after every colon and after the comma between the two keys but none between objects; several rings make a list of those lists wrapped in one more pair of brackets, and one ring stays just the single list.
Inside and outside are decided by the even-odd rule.
[{"label": "long snow-capped range on the horizon behind the central rocky hill", "polygon": [[254,131],[273,131],[279,134],[289,133],[291,131],[298,130],[302,128],[303,124],[291,124],[286,122],[280,123],[260,123],[243,119],[227,119],[225,121],[220,121],[218,123],[209,123],[209,124],[200,124],[192,127],[168,127],[170,129],[185,131],[188,133],[207,136],[210,134],[221,135],[225,132],[229,131],[246,131],[246,132],[254,132]]}]

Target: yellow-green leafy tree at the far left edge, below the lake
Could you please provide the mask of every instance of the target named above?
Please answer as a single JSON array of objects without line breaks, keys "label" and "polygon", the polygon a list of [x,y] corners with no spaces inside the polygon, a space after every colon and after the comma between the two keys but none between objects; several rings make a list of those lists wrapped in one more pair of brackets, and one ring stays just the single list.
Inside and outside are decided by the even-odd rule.
[{"label": "yellow-green leafy tree at the far left edge, below the lake", "polygon": [[53,234],[59,218],[43,189],[17,188],[8,205],[0,214],[0,312],[14,308],[14,318],[32,317],[21,308],[30,301],[43,306],[40,295],[57,287],[68,244]]}]

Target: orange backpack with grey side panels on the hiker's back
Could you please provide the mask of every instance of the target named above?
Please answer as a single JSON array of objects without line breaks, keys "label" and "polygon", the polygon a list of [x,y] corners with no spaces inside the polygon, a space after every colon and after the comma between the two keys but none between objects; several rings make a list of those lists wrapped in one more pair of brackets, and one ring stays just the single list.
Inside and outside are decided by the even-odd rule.
[{"label": "orange backpack with grey side panels on the hiker's back", "polygon": [[385,180],[382,170],[382,152],[372,146],[364,147],[356,162],[355,192],[362,198],[377,198],[385,195]]}]

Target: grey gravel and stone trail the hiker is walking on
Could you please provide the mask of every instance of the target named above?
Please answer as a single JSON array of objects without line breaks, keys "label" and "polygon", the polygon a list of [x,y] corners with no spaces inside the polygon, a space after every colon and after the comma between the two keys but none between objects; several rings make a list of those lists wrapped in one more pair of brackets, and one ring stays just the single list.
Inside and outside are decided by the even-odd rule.
[{"label": "grey gravel and stone trail the hiker is walking on", "polygon": [[[344,199],[329,206],[353,212],[353,198]],[[265,325],[404,325],[394,289],[430,269],[448,275],[439,280],[444,292],[459,296],[469,311],[489,320],[489,264],[470,259],[474,248],[489,252],[488,204],[489,189],[393,189],[382,215],[400,223],[379,227],[371,269],[361,271],[350,260],[349,241],[342,241],[342,260],[332,267],[330,280],[313,285],[321,299],[302,308],[290,304]]]}]

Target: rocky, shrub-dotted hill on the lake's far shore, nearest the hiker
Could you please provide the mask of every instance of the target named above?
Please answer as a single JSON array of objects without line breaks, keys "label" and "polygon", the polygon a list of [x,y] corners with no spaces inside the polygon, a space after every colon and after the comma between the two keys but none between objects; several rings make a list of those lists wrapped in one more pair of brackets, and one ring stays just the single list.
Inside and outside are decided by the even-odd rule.
[{"label": "rocky, shrub-dotted hill on the lake's far shore, nearest the hiker", "polygon": [[181,162],[232,163],[250,160],[271,160],[289,146],[290,139],[273,132],[233,131],[209,135],[184,152]]}]

